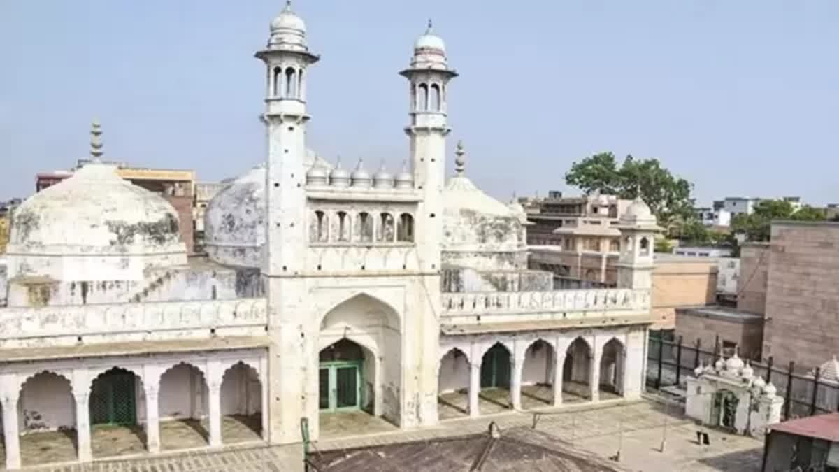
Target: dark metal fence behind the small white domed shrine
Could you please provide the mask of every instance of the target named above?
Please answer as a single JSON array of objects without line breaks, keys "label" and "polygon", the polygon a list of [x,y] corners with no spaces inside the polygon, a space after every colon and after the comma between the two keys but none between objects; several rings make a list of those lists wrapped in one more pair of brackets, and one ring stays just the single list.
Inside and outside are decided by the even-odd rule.
[{"label": "dark metal fence behind the small white domed shrine", "polygon": [[[702,349],[701,344],[683,344],[682,338],[668,341],[661,338],[649,338],[647,355],[647,388],[679,395],[685,391],[685,380],[694,375],[694,370],[701,364],[713,364],[721,349],[717,345],[713,350]],[[722,349],[723,358],[733,353]],[[812,375],[796,373],[795,362],[779,367],[774,365],[772,357],[763,364],[750,361],[754,375],[763,377],[784,397],[781,409],[782,419],[810,417],[821,413],[839,412],[839,385],[821,380],[818,368]]]}]

